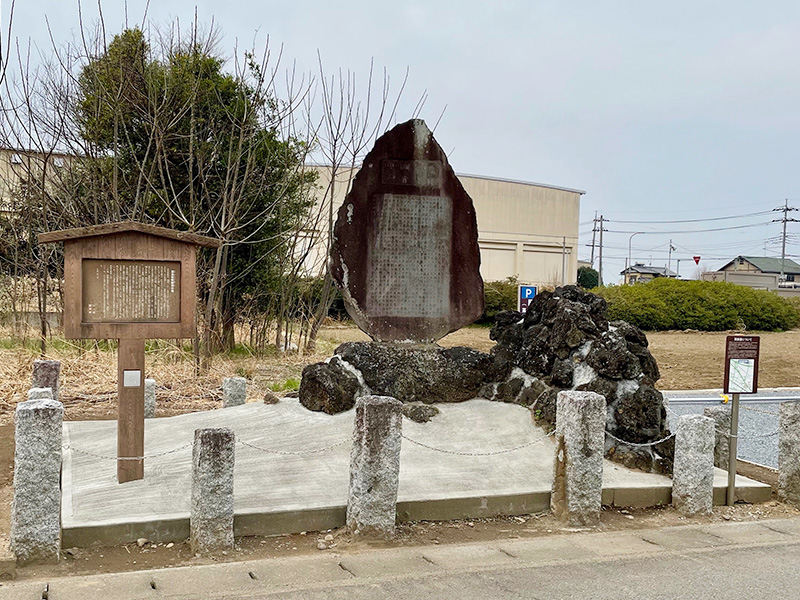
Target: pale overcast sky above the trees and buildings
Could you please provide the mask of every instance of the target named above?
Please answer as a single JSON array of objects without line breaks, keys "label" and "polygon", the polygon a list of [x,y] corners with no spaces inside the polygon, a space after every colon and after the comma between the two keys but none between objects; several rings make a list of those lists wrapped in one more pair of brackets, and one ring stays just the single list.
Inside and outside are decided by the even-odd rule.
[{"label": "pale overcast sky above the trees and buildings", "polygon": [[[124,23],[121,2],[106,1],[106,27]],[[130,23],[144,2],[128,3]],[[800,3],[789,0],[563,0],[492,3],[404,0],[377,2],[210,2],[161,0],[150,20],[188,23],[195,6],[212,19],[232,53],[236,41],[283,45],[302,71],[317,51],[328,69],[365,76],[374,59],[394,81],[410,71],[410,117],[423,92],[421,116],[462,173],[586,190],[582,243],[595,211],[612,222],[605,235],[606,282],[616,282],[630,235],[634,261],[666,264],[674,240],[680,272],[702,256],[763,255],[780,224],[727,232],[680,233],[766,223],[778,214],[692,224],[614,223],[740,215],[800,206]],[[9,0],[3,2],[3,20]],[[85,2],[86,22],[97,19]],[[14,35],[50,44],[77,34],[77,3],[18,1]],[[795,213],[800,216],[800,213]],[[791,215],[790,215],[791,216]],[[789,224],[798,231],[800,224]],[[619,233],[614,233],[619,232]],[[800,254],[790,239],[787,254]],[[769,255],[780,255],[773,239]],[[581,246],[579,256],[587,258]]]}]

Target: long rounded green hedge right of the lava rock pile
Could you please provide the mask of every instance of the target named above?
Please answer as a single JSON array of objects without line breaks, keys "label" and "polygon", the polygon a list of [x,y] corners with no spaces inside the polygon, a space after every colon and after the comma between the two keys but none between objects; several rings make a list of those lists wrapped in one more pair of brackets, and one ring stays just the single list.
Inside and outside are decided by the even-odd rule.
[{"label": "long rounded green hedge right of the lava rock pile", "polygon": [[608,301],[609,319],[640,329],[783,331],[800,325],[797,303],[772,292],[717,281],[655,279],[596,288]]}]

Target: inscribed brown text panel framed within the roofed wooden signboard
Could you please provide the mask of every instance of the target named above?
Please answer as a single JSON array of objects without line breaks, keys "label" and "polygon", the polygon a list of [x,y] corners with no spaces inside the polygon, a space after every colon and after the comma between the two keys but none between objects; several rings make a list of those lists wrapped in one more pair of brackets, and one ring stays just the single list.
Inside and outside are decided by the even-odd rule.
[{"label": "inscribed brown text panel framed within the roofed wooden signboard", "polygon": [[178,323],[181,263],[83,259],[84,323]]}]

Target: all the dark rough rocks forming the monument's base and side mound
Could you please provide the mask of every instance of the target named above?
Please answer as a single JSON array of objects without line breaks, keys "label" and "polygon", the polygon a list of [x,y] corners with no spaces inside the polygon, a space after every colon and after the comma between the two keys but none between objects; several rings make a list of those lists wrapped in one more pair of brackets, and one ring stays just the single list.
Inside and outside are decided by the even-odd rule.
[{"label": "all the dark rough rocks forming the monument's base and side mound", "polygon": [[[480,397],[527,406],[534,418],[554,427],[558,392],[590,391],[606,399],[611,435],[639,444],[668,435],[647,338],[628,323],[609,322],[599,296],[575,286],[542,292],[525,315],[498,315],[491,338],[497,344],[489,354],[422,344],[342,344],[328,361],[303,370],[300,402],[335,414],[368,394],[415,404]],[[673,449],[671,440],[652,448],[610,436],[605,442],[609,458],[664,472],[671,471]]]}]

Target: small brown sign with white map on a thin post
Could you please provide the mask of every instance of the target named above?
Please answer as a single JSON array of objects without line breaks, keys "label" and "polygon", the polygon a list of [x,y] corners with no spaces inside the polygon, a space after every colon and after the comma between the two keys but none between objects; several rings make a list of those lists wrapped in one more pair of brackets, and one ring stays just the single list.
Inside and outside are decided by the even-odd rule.
[{"label": "small brown sign with white map on a thin post", "polygon": [[755,394],[758,391],[760,345],[761,338],[755,335],[729,335],[725,338],[725,384],[722,391],[733,395],[728,452],[728,506],[733,506],[736,501],[739,394]]}]

